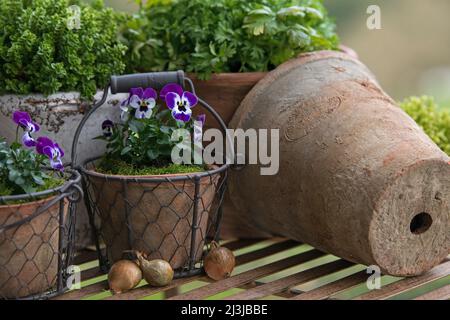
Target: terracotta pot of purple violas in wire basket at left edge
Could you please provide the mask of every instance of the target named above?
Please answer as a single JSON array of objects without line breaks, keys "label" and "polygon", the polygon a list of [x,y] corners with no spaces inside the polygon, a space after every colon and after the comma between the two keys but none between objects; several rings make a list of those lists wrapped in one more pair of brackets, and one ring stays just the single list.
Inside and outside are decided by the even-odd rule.
[{"label": "terracotta pot of purple violas in wire basket at left edge", "polygon": [[60,195],[69,180],[63,150],[47,137],[34,139],[40,127],[28,113],[16,111],[13,120],[17,135],[24,133],[22,143],[0,140],[0,298],[56,286],[63,259],[60,238],[65,237],[61,219],[69,207]]}]

